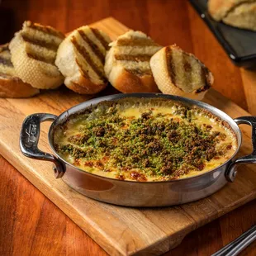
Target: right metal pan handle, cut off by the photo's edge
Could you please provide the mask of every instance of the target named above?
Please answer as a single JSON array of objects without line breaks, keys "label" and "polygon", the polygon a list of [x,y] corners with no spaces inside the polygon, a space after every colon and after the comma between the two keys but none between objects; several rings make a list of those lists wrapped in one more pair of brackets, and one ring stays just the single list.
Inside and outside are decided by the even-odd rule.
[{"label": "right metal pan handle, cut off by the photo's edge", "polygon": [[230,164],[230,166],[225,172],[225,178],[230,183],[233,183],[235,180],[237,164],[255,164],[256,163],[256,116],[241,116],[241,117],[235,118],[234,121],[238,125],[245,124],[245,125],[252,126],[253,152],[252,154],[248,154],[240,157],[239,159],[235,159],[235,161]]}]

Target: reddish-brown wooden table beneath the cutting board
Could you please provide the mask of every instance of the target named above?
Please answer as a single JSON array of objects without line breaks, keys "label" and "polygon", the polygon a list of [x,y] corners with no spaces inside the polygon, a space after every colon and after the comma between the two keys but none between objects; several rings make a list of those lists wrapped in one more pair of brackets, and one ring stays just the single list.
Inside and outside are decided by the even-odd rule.
[{"label": "reddish-brown wooden table beneath the cutting board", "polygon": [[[104,17],[176,43],[214,73],[214,88],[256,115],[256,73],[235,67],[185,0],[3,0],[1,43],[30,19],[68,32]],[[255,83],[255,84],[254,84]],[[0,156],[0,255],[107,255],[36,187]],[[256,222],[256,201],[192,232],[166,255],[210,255]],[[242,255],[255,255],[256,244]]]}]

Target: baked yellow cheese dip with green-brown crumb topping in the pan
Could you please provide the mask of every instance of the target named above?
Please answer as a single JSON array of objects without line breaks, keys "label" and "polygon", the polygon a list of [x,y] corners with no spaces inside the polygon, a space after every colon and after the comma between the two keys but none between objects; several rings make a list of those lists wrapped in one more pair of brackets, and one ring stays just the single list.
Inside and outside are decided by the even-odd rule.
[{"label": "baked yellow cheese dip with green-brown crumb topping in the pan", "polygon": [[237,149],[230,126],[199,107],[160,98],[101,102],[56,127],[55,150],[107,178],[168,181],[208,172]]}]

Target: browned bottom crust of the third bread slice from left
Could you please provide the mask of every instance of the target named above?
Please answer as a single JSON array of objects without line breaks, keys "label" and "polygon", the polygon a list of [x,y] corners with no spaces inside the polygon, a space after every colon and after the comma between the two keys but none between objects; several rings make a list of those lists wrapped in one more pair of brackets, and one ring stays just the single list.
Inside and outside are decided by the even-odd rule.
[{"label": "browned bottom crust of the third bread slice from left", "polygon": [[79,94],[95,94],[107,87],[107,83],[95,84],[87,78],[80,76],[78,81],[65,83],[66,87]]}]

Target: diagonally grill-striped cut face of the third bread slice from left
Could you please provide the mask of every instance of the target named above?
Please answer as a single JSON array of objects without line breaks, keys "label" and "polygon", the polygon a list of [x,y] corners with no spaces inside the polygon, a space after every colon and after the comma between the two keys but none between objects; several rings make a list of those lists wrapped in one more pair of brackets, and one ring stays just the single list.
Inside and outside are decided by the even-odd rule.
[{"label": "diagonally grill-striped cut face of the third bread slice from left", "polygon": [[97,29],[84,26],[73,34],[71,42],[78,52],[76,62],[83,77],[93,83],[107,83],[104,64],[110,40]]}]

